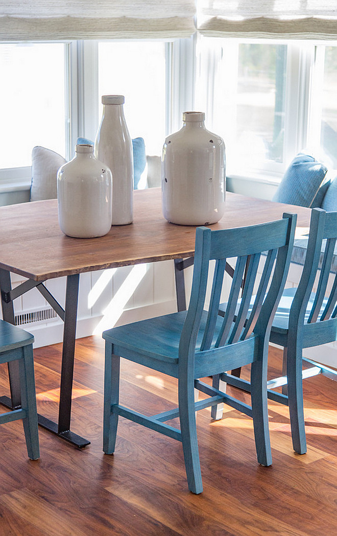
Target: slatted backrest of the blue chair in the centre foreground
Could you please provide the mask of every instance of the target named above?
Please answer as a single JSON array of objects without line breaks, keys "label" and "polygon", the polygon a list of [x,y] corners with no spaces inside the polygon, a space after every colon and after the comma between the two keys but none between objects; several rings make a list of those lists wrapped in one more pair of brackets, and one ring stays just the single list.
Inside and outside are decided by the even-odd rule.
[{"label": "slatted backrest of the blue chair in the centre foreground", "polygon": [[[196,352],[204,353],[205,358],[210,351],[221,354],[223,346],[245,341],[253,331],[268,338],[286,282],[295,225],[296,215],[284,214],[282,220],[254,227],[214,231],[197,228],[192,292],[179,346],[179,360],[188,355],[193,360]],[[263,273],[253,298],[260,257],[266,251]],[[226,313],[221,318],[218,310],[226,259],[234,256],[237,257],[234,277]],[[215,270],[201,339],[199,331],[210,260],[215,260]],[[245,284],[241,295],[243,277]]]}]

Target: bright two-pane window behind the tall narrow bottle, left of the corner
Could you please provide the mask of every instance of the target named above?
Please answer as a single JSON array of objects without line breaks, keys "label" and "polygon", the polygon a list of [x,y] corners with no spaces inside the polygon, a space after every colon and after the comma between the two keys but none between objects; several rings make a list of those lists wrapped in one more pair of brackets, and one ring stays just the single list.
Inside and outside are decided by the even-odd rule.
[{"label": "bright two-pane window behind the tall narrow bottle, left of the corner", "polygon": [[77,137],[94,140],[103,94],[125,95],[131,137],[143,137],[147,154],[160,155],[169,52],[160,40],[0,44],[0,180],[29,185],[35,145],[70,159]]}]

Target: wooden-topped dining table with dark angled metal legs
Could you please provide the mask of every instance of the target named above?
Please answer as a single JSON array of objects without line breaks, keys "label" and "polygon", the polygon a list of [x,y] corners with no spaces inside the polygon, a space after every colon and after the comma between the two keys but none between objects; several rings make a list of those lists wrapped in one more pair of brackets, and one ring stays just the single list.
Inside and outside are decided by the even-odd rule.
[{"label": "wooden-topped dining table with dark angled metal legs", "polygon": [[[261,224],[297,213],[297,232],[309,229],[311,210],[226,192],[224,215],[212,229]],[[163,218],[159,188],[134,191],[133,223],[113,226],[105,236],[76,239],[65,236],[58,225],[57,200],[0,207],[0,288],[4,320],[14,324],[13,300],[36,287],[63,320],[58,422],[39,415],[39,424],[79,447],[89,444],[73,433],[71,397],[78,306],[79,276],[84,272],[175,260],[177,308],[185,308],[184,268],[191,265],[196,227],[170,224]],[[12,288],[11,272],[27,278]],[[44,282],[66,276],[64,306]],[[19,371],[9,363],[11,397],[0,397],[7,407],[20,406]]]}]

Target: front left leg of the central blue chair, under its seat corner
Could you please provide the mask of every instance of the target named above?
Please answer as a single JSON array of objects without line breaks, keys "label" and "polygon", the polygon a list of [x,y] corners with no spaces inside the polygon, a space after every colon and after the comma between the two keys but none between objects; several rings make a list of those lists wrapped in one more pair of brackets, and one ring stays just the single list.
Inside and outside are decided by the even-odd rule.
[{"label": "front left leg of the central blue chair, under its seat corner", "polygon": [[104,412],[103,451],[115,451],[118,415],[111,412],[111,406],[119,401],[119,374],[121,358],[112,353],[112,345],[106,341],[106,361],[104,366]]}]

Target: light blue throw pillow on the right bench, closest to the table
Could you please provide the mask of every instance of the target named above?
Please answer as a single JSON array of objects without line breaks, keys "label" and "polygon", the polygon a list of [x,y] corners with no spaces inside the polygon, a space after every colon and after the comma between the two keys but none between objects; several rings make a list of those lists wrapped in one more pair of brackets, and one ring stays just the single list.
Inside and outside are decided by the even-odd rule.
[{"label": "light blue throw pillow on the right bench, closest to the table", "polygon": [[307,154],[299,153],[290,163],[273,201],[311,206],[327,168]]}]

